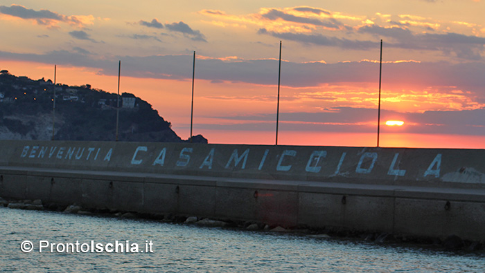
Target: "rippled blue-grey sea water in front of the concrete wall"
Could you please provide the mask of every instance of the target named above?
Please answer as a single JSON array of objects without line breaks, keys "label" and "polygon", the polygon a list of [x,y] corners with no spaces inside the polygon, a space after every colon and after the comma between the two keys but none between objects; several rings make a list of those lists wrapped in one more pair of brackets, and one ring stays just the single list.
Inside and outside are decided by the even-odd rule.
[{"label": "rippled blue-grey sea water in front of the concrete wall", "polygon": [[[32,252],[20,249],[32,241]],[[39,252],[39,241],[138,243],[143,253]],[[152,253],[145,243],[152,241]],[[43,243],[44,245],[46,243]],[[88,245],[85,245],[87,247]],[[131,245],[130,245],[131,246]],[[119,247],[119,246],[118,246]],[[80,249],[86,251],[87,248]],[[109,249],[111,250],[111,249]],[[118,248],[121,252],[121,248]],[[132,249],[134,250],[134,249]],[[485,255],[294,234],[0,208],[0,272],[485,272]]]}]

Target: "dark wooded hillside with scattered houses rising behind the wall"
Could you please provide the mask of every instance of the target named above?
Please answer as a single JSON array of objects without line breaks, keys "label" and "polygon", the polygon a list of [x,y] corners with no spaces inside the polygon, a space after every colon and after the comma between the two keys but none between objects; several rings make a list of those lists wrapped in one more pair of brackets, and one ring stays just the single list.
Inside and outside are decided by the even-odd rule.
[{"label": "dark wooded hillside with scattered houses rising behind the wall", "polygon": [[[115,93],[83,86],[33,80],[0,71],[0,139],[51,140],[55,93],[55,140],[116,140]],[[170,122],[148,102],[130,93],[119,100],[119,141],[182,142]],[[193,142],[207,140],[202,135]]]}]

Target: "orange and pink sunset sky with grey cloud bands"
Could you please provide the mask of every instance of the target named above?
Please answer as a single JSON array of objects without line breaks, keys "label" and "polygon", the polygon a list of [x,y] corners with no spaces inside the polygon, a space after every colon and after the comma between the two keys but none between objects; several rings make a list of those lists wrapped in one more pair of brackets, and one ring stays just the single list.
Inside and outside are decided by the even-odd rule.
[{"label": "orange and pink sunset sky with grey cloud bands", "polygon": [[[189,137],[485,149],[485,0],[0,1],[0,69],[150,102]],[[403,126],[386,126],[402,120]]]}]

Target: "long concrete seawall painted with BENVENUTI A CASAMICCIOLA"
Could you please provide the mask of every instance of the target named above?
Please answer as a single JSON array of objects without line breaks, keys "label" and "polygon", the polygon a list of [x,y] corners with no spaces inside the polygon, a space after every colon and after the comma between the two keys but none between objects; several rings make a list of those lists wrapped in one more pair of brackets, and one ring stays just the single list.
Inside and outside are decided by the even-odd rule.
[{"label": "long concrete seawall painted with BENVENUTI A CASAMICCIOLA", "polygon": [[0,141],[0,196],[485,240],[485,150]]}]

